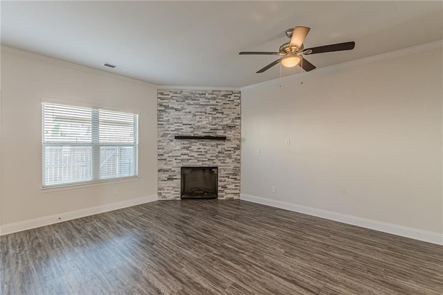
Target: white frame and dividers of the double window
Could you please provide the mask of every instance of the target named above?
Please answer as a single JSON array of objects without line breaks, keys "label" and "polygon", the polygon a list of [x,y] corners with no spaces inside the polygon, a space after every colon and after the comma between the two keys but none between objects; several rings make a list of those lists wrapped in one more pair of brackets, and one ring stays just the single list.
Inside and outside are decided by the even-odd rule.
[{"label": "white frame and dividers of the double window", "polygon": [[[66,107],[85,107],[91,109],[91,128],[96,129],[94,132],[96,136],[100,136],[100,122],[98,119],[98,113],[100,110],[102,111],[116,111],[116,112],[123,112],[127,114],[133,114],[136,116],[136,120],[134,120],[134,143],[100,143],[100,141],[97,138],[93,138],[93,135],[91,134],[91,142],[69,142],[60,141],[59,143],[45,143],[44,141],[44,104],[45,103],[53,103],[57,105],[66,105]],[[42,133],[41,137],[41,153],[40,153],[40,160],[41,162],[41,168],[42,168],[42,177],[41,177],[41,189],[42,190],[64,190],[69,188],[78,188],[78,187],[84,187],[84,186],[97,186],[100,184],[106,184],[106,183],[112,183],[112,182],[124,182],[124,181],[134,181],[138,180],[139,176],[139,142],[140,138],[138,136],[139,134],[139,122],[140,122],[140,114],[138,111],[134,111],[132,109],[120,109],[120,108],[114,108],[114,107],[104,107],[101,105],[89,105],[89,104],[83,104],[79,102],[72,102],[72,101],[66,101],[66,100],[53,100],[48,98],[42,98],[40,102],[41,106],[41,126],[40,126],[40,132]],[[93,116],[96,116],[96,118],[93,118]],[[94,123],[94,121],[96,123]],[[92,133],[92,130],[91,130]],[[73,181],[69,183],[63,183],[63,184],[45,184],[45,152],[44,149],[47,146],[84,146],[84,147],[91,147],[91,179],[87,181]],[[100,147],[106,147],[106,146],[112,146],[112,147],[118,147],[118,146],[125,146],[125,147],[134,147],[134,157],[132,158],[134,161],[134,175],[129,176],[123,176],[123,177],[107,177],[100,179]],[[96,152],[97,157],[93,157],[94,149],[98,149],[98,152]],[[96,161],[94,161],[94,159]]]}]

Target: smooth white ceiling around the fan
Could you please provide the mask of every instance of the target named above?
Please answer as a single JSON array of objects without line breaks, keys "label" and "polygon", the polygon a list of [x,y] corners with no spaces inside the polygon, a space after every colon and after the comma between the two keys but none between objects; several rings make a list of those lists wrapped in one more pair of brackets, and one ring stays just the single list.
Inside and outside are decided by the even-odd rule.
[{"label": "smooth white ceiling around the fan", "polygon": [[[1,1],[1,44],[153,84],[243,87],[287,28],[309,26],[305,48],[355,41],[307,57],[318,68],[442,39],[442,1]],[[282,75],[300,68],[282,69]],[[315,71],[315,70],[314,70]]]}]

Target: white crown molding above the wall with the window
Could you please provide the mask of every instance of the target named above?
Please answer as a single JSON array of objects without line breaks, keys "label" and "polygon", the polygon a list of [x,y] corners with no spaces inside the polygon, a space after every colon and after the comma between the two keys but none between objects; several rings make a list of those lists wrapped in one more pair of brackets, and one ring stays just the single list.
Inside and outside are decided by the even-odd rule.
[{"label": "white crown molding above the wall with the window", "polygon": [[76,70],[76,71],[82,71],[82,72],[85,72],[85,73],[92,73],[92,74],[95,74],[95,75],[102,75],[102,76],[109,77],[109,78],[116,78],[118,80],[123,80],[123,81],[126,81],[126,82],[132,82],[132,83],[135,83],[135,84],[139,84],[139,85],[143,85],[143,86],[147,86],[147,87],[151,87],[151,88],[157,89],[157,85],[156,84],[151,84],[151,83],[148,83],[148,82],[145,82],[145,81],[136,80],[134,78],[127,78],[127,77],[124,77],[123,75],[118,75],[116,73],[109,73],[107,71],[93,69],[93,68],[90,68],[89,66],[81,66],[80,64],[73,64],[72,62],[66,62],[64,60],[58,60],[57,58],[48,57],[48,56],[45,56],[45,55],[39,55],[37,53],[32,53],[30,51],[24,51],[24,50],[21,50],[21,49],[12,48],[12,47],[9,47],[9,46],[4,46],[4,45],[1,45],[0,51],[1,51],[1,53],[9,53],[9,54],[12,54],[12,55],[19,55],[19,56],[22,56],[22,57],[30,58],[32,60],[38,60],[38,61],[41,61],[41,62],[49,62],[51,64],[55,64],[57,66],[63,66],[65,68],[73,69],[73,70]]}]

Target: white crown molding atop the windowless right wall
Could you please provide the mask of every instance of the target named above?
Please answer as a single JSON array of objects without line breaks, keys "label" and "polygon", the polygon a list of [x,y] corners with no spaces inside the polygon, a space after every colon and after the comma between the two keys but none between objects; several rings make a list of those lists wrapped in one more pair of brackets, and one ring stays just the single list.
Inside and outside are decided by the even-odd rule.
[{"label": "white crown molding atop the windowless right wall", "polygon": [[[311,75],[312,73],[327,73],[330,71],[337,71],[340,69],[350,68],[352,66],[359,66],[361,64],[369,64],[371,62],[377,62],[379,60],[388,60],[393,57],[399,57],[402,55],[410,55],[410,54],[419,53],[422,51],[428,51],[428,50],[439,48],[442,46],[443,46],[443,39],[435,41],[435,42],[420,44],[417,46],[402,48],[402,49],[399,49],[396,51],[381,53],[381,54],[373,55],[370,57],[363,57],[359,60],[351,60],[350,62],[343,62],[341,64],[334,64],[332,66],[325,66],[324,68],[316,69],[315,72],[313,71],[311,73],[303,73],[303,75],[305,75],[305,77],[307,77],[308,75]],[[267,81],[256,83],[256,84],[246,85],[244,87],[240,87],[240,91],[264,86],[266,84],[276,84],[276,83],[288,82],[288,81],[291,81],[295,78],[298,78],[300,75],[301,75],[300,73],[296,73],[293,75],[284,76],[282,78],[275,78],[273,80],[267,80]]]}]

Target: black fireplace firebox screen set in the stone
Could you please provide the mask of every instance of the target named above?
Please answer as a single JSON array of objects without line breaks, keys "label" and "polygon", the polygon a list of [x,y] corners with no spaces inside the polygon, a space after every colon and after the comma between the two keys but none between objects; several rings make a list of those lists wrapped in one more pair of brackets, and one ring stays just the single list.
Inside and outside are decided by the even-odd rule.
[{"label": "black fireplace firebox screen set in the stone", "polygon": [[217,199],[217,167],[182,167],[181,199]]}]

